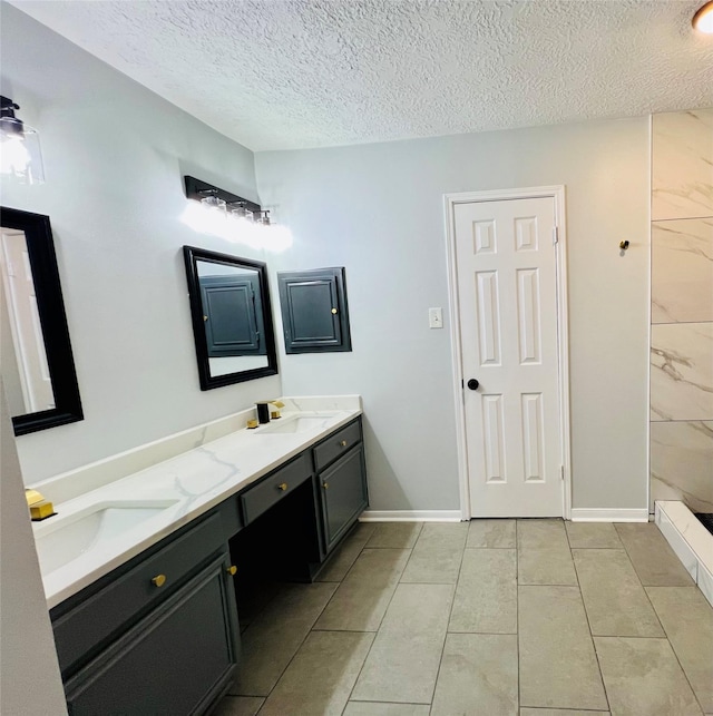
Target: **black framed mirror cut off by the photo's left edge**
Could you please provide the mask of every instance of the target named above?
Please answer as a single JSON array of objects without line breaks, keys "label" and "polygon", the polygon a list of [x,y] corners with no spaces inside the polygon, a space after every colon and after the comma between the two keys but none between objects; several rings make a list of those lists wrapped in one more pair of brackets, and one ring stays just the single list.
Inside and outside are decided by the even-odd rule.
[{"label": "black framed mirror cut off by the photo's left edge", "polygon": [[[84,420],[49,216],[0,207],[2,373],[16,435]],[[4,352],[4,350],[3,350]]]}]

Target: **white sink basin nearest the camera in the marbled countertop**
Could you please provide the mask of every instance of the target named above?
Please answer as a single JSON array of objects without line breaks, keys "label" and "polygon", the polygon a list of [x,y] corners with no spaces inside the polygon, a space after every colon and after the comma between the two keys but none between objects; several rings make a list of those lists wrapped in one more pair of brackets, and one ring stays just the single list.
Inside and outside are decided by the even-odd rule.
[{"label": "white sink basin nearest the camera in the marbled countertop", "polygon": [[106,540],[159,514],[176,501],[99,502],[64,519],[59,514],[49,518],[35,536],[40,571],[48,575],[64,567]]}]

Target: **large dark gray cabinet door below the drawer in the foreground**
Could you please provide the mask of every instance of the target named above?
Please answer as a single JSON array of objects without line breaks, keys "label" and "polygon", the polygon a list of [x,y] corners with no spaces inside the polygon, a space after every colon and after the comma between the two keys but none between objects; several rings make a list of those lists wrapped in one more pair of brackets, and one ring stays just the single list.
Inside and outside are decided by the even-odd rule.
[{"label": "large dark gray cabinet door below the drawer in the foreground", "polygon": [[74,715],[203,713],[237,663],[235,596],[225,556],[66,685]]}]

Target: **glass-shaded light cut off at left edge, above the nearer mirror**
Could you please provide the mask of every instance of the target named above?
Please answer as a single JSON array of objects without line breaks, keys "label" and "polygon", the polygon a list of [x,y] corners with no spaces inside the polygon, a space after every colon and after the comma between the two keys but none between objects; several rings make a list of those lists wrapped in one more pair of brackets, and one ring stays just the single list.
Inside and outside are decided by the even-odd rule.
[{"label": "glass-shaded light cut off at left edge, above the nearer mirror", "polygon": [[9,97],[0,96],[0,174],[8,174],[21,184],[42,184],[45,169],[40,137],[14,110],[20,109]]}]

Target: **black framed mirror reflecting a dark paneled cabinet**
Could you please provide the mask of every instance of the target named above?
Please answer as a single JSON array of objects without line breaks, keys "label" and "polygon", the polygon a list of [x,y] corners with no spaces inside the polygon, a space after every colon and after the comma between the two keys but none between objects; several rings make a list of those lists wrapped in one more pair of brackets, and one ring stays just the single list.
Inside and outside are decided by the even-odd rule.
[{"label": "black framed mirror reflecting a dark paneled cabinet", "polygon": [[267,267],[183,247],[201,390],[277,373]]}]

